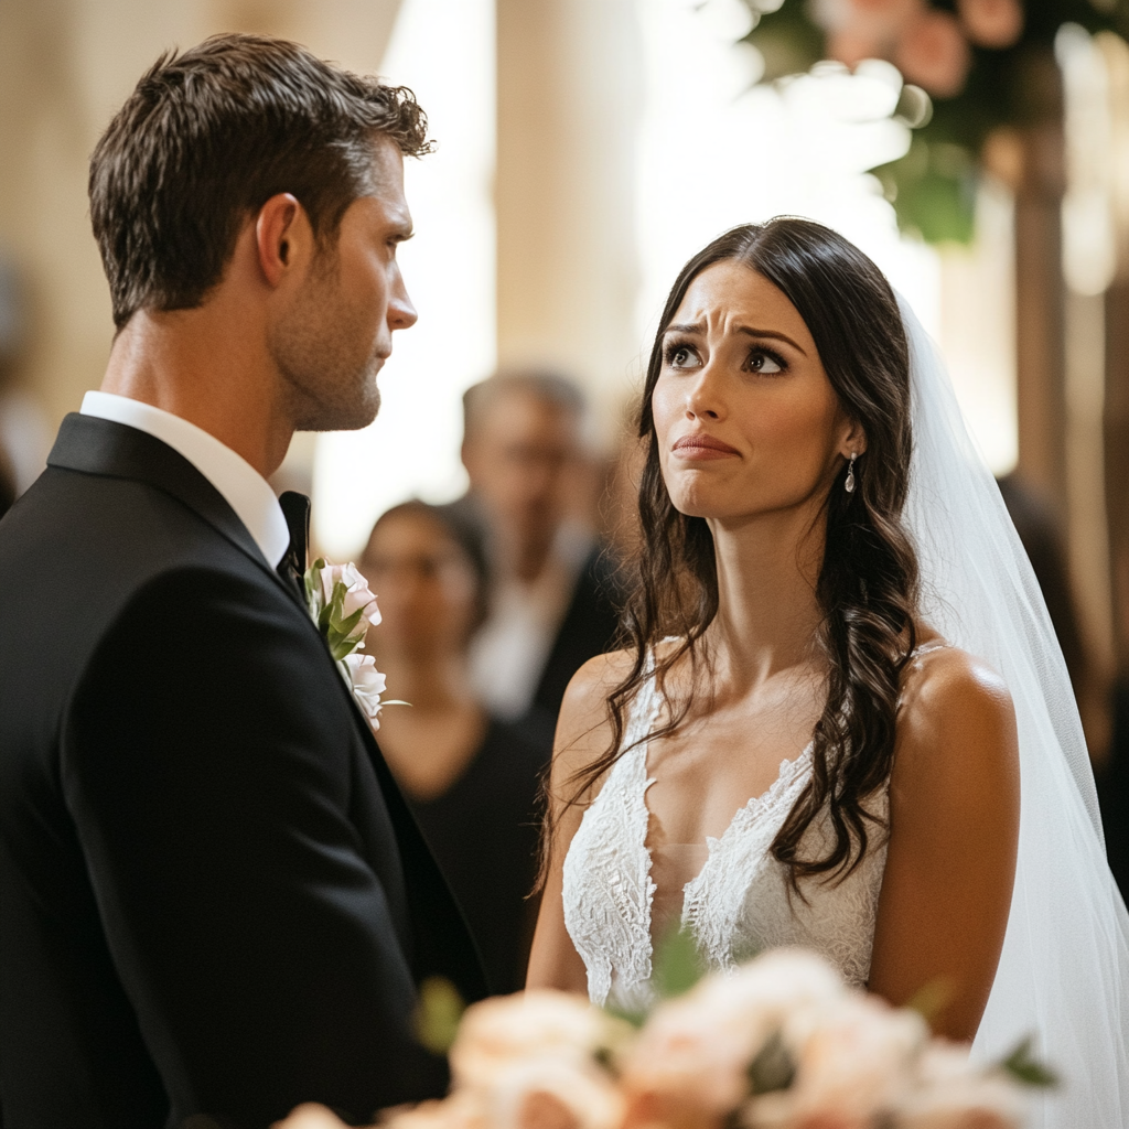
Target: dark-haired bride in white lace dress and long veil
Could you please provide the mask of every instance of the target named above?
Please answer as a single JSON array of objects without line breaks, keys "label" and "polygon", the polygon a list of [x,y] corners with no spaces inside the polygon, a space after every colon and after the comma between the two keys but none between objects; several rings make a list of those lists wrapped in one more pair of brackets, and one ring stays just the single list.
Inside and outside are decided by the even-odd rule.
[{"label": "dark-haired bride in white lace dress and long veil", "polygon": [[630,646],[558,727],[528,984],[636,1009],[679,925],[712,966],[815,948],[984,1060],[1035,1123],[1129,1124],[1129,918],[1045,607],[928,338],[820,225],[682,270],[640,413]]}]

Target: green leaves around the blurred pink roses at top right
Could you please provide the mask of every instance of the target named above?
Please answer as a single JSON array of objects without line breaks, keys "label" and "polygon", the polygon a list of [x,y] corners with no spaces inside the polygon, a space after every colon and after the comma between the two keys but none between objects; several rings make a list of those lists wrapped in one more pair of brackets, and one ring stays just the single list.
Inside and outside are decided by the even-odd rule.
[{"label": "green leaves around the blurred pink roses at top right", "polygon": [[[828,58],[823,29],[811,18],[808,0],[784,0],[776,11],[745,0],[756,24],[747,36],[764,58],[762,81],[811,70]],[[763,0],[761,0],[763,3]],[[956,10],[956,0],[931,0]],[[1054,37],[1064,24],[1087,32],[1129,37],[1129,0],[1023,0],[1024,28],[1003,50],[972,46],[968,79],[954,97],[933,100],[919,121],[904,107],[894,111],[914,129],[910,151],[875,169],[903,230],[929,243],[968,243],[984,140],[1000,128],[1060,115],[1060,89],[1053,59]]]}]

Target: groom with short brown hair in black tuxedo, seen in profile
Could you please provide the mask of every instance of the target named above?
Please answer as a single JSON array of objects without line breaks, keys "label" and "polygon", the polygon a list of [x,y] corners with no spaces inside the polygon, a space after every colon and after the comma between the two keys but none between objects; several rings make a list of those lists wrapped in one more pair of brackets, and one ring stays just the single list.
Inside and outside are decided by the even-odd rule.
[{"label": "groom with short brown hair in black tuxedo, seen in profile", "polygon": [[376,415],[415,321],[408,90],[295,44],[165,56],[95,150],[117,335],[0,524],[7,1129],[350,1120],[438,1094],[412,1036],[473,946],[307,615],[295,430]]}]

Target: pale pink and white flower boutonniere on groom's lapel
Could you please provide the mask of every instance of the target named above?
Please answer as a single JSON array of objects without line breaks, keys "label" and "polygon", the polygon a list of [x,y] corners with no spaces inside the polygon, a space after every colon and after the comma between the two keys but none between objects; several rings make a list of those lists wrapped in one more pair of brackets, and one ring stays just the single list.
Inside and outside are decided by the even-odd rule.
[{"label": "pale pink and white flower boutonniere on groom's lapel", "polygon": [[320,557],[306,570],[306,606],[361,712],[379,729],[380,707],[393,703],[380,701],[385,680],[376,659],[359,654],[368,629],[380,622],[368,581],[356,564],[327,564]]}]

